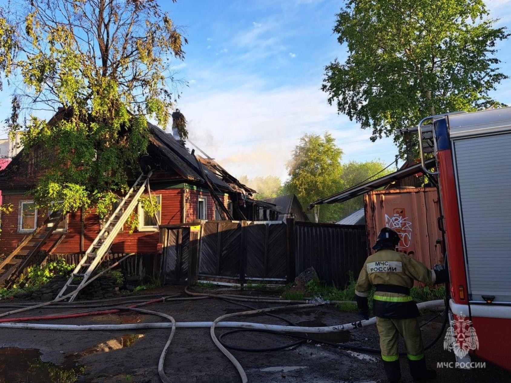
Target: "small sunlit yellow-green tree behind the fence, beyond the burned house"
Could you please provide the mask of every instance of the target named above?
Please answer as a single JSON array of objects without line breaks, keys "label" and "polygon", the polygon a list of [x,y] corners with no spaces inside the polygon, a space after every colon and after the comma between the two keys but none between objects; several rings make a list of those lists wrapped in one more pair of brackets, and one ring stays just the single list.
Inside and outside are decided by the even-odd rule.
[{"label": "small sunlit yellow-green tree behind the fence, beyond the burned house", "polygon": [[[289,180],[286,190],[294,193],[306,208],[315,200],[341,190],[340,163],[342,150],[335,145],[334,137],[326,132],[321,137],[317,134],[305,134],[295,147],[287,163]],[[320,205],[313,208],[313,219],[319,222],[331,221],[338,214],[337,206]]]}]

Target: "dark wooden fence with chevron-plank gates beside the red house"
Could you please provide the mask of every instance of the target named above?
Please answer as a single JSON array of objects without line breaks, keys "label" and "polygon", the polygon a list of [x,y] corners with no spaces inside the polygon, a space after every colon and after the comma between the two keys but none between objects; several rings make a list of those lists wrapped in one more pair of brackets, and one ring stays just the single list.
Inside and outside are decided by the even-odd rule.
[{"label": "dark wooden fence with chevron-plank gates beside the red house", "polygon": [[161,227],[166,282],[200,278],[293,281],[314,267],[321,280],[343,286],[360,272],[364,226],[305,222],[201,221]]}]

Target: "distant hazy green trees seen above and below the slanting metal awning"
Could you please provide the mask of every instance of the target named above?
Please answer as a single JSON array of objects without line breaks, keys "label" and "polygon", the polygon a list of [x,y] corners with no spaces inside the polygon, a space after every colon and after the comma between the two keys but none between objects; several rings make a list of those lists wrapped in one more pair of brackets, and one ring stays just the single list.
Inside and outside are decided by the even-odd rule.
[{"label": "distant hazy green trees seen above and below the slanting metal awning", "polygon": [[[345,188],[350,188],[383,177],[391,172],[392,170],[385,169],[385,164],[380,160],[365,162],[350,161],[342,166],[341,180]],[[360,209],[363,205],[362,196],[340,203],[341,217],[339,219]]]}]

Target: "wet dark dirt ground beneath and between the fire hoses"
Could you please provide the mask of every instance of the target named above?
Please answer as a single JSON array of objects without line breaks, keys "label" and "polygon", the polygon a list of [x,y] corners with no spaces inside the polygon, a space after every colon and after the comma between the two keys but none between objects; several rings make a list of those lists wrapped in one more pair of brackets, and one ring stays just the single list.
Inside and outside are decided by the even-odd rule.
[{"label": "wet dark dirt ground beneath and between the fire hoses", "polygon": [[[175,293],[177,288],[160,289],[158,292]],[[182,290],[181,290],[182,291]],[[148,292],[150,293],[150,292]],[[238,294],[238,293],[235,293]],[[243,302],[256,308],[271,307],[278,303]],[[218,299],[174,301],[155,303],[145,307],[172,315],[176,321],[213,321],[225,313],[248,310],[238,304]],[[4,309],[3,311],[6,311]],[[69,309],[34,310],[31,315],[51,314]],[[358,320],[357,314],[342,313],[332,306],[319,306],[303,310],[286,310],[278,315],[298,325],[335,325]],[[422,321],[431,318],[428,314]],[[265,315],[231,318],[248,322],[286,324],[279,318]],[[161,322],[154,316],[125,313],[86,318],[54,320],[61,324],[115,324]],[[424,342],[433,340],[441,326],[440,318],[423,327]],[[229,329],[219,328],[217,334]],[[98,351],[99,345],[118,340],[124,331],[37,331],[2,329],[0,347],[35,349],[41,361],[55,366],[66,366],[73,361],[84,366],[78,382],[159,382],[157,364],[170,329],[137,330],[144,336],[136,339],[130,347]],[[378,347],[375,327],[365,327],[351,332],[317,336],[322,341],[333,341],[359,347]],[[324,338],[323,338],[324,337]],[[295,341],[287,336],[239,332],[226,337],[229,344],[250,348],[274,347]],[[122,342],[122,341],[121,341]],[[403,344],[400,345],[404,351]],[[108,348],[108,347],[107,347]],[[96,350],[97,352],[87,352]],[[385,381],[383,366],[378,353],[346,350],[337,346],[306,342],[299,346],[273,352],[232,351],[244,367],[250,382],[382,382]],[[454,355],[443,350],[442,342],[426,351],[427,364],[436,367],[436,362],[453,362]],[[401,359],[403,383],[411,381],[405,358]],[[238,373],[227,358],[213,344],[209,328],[178,328],[165,361],[165,371],[174,382],[209,383],[240,381]],[[504,382],[511,381],[511,374],[489,363],[485,369],[451,370],[438,369],[437,381],[449,383]],[[5,380],[5,379],[4,379]],[[3,381],[0,380],[2,383]],[[16,380],[6,380],[14,381]],[[33,381],[33,380],[25,380]],[[37,380],[34,380],[37,382]]]}]

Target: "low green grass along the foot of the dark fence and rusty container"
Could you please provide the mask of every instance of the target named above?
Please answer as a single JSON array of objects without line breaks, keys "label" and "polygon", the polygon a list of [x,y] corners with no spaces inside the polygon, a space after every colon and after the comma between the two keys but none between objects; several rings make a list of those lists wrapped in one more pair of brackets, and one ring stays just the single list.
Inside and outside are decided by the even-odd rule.
[{"label": "low green grass along the foot of the dark fence and rusty container", "polygon": [[[344,289],[338,289],[336,286],[327,286],[319,279],[310,280],[305,288],[305,293],[289,290],[292,285],[287,285],[285,291],[281,294],[283,299],[288,300],[303,300],[305,297],[321,297],[329,301],[349,301],[337,304],[337,308],[345,312],[356,312],[358,310],[355,303],[350,303],[355,300],[355,286],[357,281],[350,276],[350,282]],[[371,290],[368,296],[369,307],[373,306],[373,295],[375,289]],[[445,286],[438,286],[437,289],[431,289],[429,286],[423,288],[412,287],[410,289],[410,296],[416,302],[425,302],[435,299],[444,299],[446,296]]]}]

